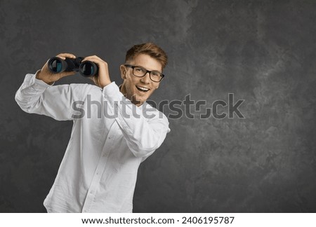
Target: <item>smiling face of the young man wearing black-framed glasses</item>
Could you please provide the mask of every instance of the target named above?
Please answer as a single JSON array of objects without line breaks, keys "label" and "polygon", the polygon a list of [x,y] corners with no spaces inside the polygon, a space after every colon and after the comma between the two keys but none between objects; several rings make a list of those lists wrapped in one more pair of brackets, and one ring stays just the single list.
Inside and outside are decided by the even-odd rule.
[{"label": "smiling face of the young man wearing black-framed glasses", "polygon": [[[162,73],[162,64],[150,55],[139,54],[127,64]],[[137,77],[133,75],[131,67],[121,65],[120,69],[121,78],[124,79],[121,92],[137,106],[143,104],[152,95],[152,92],[159,87],[160,82],[152,81],[148,72],[143,77]]]}]

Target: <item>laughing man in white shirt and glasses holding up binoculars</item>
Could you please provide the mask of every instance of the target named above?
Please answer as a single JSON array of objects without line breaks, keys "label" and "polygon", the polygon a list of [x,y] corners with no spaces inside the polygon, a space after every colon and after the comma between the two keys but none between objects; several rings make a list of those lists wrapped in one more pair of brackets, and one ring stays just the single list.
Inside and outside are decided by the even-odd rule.
[{"label": "laughing man in white shirt and glasses holding up binoculars", "polygon": [[[75,58],[70,53],[58,57]],[[132,212],[138,167],[170,131],[166,116],[145,102],[164,77],[166,53],[154,43],[133,46],[120,66],[120,88],[110,81],[105,61],[97,56],[85,60],[98,65],[98,75],[92,78],[96,85],[54,86],[74,72],[52,74],[46,63],[25,76],[15,95],[28,113],[73,121],[44,206],[48,212]]]}]

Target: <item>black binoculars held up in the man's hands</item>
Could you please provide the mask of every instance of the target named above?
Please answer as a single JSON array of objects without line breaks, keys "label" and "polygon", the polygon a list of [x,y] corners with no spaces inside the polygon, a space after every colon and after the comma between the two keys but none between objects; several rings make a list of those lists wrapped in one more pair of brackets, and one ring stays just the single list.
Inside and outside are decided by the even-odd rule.
[{"label": "black binoculars held up in the man's hands", "polygon": [[62,71],[79,71],[81,76],[89,77],[98,74],[98,66],[91,61],[84,61],[84,57],[67,58],[62,60],[60,57],[51,57],[48,60],[48,69],[53,74],[59,74]]}]

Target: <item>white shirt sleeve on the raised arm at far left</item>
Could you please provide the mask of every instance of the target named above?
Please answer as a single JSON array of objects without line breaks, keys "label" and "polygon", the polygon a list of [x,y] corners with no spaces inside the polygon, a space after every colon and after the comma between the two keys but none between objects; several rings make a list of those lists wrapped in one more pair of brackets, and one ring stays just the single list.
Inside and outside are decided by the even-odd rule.
[{"label": "white shirt sleeve on the raised arm at far left", "polygon": [[35,75],[27,74],[15,94],[20,108],[27,113],[50,116],[58,121],[73,120],[72,115],[76,113],[72,105],[74,101],[82,99],[82,86],[48,85]]}]

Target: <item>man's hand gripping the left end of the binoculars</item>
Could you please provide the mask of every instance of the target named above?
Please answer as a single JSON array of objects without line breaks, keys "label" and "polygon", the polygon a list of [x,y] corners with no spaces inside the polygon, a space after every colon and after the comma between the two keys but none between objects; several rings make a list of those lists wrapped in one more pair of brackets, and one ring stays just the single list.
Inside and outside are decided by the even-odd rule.
[{"label": "man's hand gripping the left end of the binoculars", "polygon": [[[57,55],[56,57],[60,57],[62,60],[65,60],[65,58],[76,58],[76,56],[70,54],[70,53],[61,53]],[[64,76],[71,76],[76,74],[75,71],[63,71],[60,74],[53,74],[49,69],[48,69],[48,64],[44,64],[44,67],[37,72],[36,78],[44,81],[45,83],[48,84],[53,84],[55,81],[58,81],[60,78]]]}]

